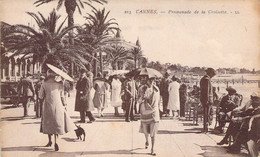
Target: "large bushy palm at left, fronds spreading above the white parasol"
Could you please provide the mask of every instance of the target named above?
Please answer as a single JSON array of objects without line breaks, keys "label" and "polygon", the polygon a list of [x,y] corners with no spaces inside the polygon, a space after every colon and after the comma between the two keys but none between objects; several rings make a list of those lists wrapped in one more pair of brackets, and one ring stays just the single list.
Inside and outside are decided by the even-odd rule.
[{"label": "large bushy palm at left, fronds spreading above the white parasol", "polygon": [[[84,67],[88,63],[87,58],[92,57],[80,43],[75,45],[68,44],[68,33],[76,27],[65,27],[65,20],[57,27],[60,15],[53,10],[48,18],[41,13],[28,14],[36,21],[39,31],[30,26],[16,25],[16,31],[9,35],[8,43],[11,45],[9,51],[15,55],[32,57],[34,62],[55,64],[62,69],[68,69],[69,64]],[[22,37],[22,38],[21,38]]]}]

